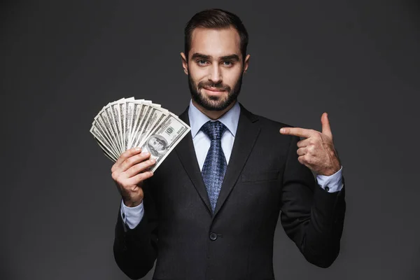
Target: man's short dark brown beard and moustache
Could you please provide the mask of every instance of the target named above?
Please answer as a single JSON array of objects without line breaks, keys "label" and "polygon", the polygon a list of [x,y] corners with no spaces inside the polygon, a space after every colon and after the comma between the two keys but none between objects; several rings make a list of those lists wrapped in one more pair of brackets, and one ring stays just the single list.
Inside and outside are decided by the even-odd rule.
[{"label": "man's short dark brown beard and moustache", "polygon": [[[193,100],[197,102],[200,106],[202,106],[204,109],[209,111],[223,111],[230,104],[236,101],[239,92],[241,91],[241,85],[242,85],[242,75],[237,80],[237,83],[231,88],[229,85],[224,85],[223,83],[211,83],[211,82],[200,82],[198,85],[195,85],[194,80],[191,78],[190,74],[188,73],[188,86],[190,87],[191,97],[193,97]],[[228,92],[228,97],[214,97],[205,96],[201,90],[204,87],[215,87],[218,90],[225,90]]]}]

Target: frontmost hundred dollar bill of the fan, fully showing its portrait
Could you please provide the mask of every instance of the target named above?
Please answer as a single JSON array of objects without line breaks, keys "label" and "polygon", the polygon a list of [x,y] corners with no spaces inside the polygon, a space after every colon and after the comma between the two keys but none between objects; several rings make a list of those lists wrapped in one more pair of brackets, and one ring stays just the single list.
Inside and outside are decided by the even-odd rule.
[{"label": "frontmost hundred dollar bill of the fan, fully showing its portrait", "polygon": [[159,165],[165,160],[175,146],[190,132],[190,127],[180,120],[176,115],[169,112],[169,115],[160,125],[148,135],[139,145],[142,152],[151,153],[151,158],[156,160],[156,164],[150,171],[155,172]]}]

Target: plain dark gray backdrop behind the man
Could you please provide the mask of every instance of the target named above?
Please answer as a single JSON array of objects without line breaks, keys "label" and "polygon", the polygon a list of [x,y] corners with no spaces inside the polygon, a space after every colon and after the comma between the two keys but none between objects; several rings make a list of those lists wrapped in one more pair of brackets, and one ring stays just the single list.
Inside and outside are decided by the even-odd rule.
[{"label": "plain dark gray backdrop behind the man", "polygon": [[339,258],[310,265],[278,227],[276,278],[420,279],[419,2],[197,2],[2,4],[0,279],[127,279],[112,254],[120,197],[90,125],[132,95],[181,113],[183,27],[214,7],[250,34],[239,101],[316,130],[327,111],[344,165]]}]

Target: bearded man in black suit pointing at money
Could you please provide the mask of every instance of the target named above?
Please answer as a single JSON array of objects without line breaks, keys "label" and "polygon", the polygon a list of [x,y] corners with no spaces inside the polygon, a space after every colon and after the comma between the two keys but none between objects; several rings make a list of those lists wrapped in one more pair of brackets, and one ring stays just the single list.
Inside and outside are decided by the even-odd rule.
[{"label": "bearded man in black suit pointing at money", "polygon": [[132,279],[155,260],[153,279],[274,279],[280,211],[304,257],[330,266],[345,202],[328,116],[316,132],[255,116],[237,102],[250,56],[236,15],[204,10],[185,33],[181,58],[192,100],[179,118],[190,133],[155,174],[147,171],[155,161],[136,148],[111,169],[123,196],[113,247],[118,266]]}]

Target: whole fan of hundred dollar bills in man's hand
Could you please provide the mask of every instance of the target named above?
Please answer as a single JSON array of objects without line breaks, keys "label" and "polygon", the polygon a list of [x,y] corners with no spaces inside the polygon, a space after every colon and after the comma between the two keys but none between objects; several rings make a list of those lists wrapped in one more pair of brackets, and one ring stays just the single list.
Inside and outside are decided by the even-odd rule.
[{"label": "whole fan of hundred dollar bills in man's hand", "polygon": [[150,100],[122,98],[104,106],[94,117],[90,133],[107,158],[116,162],[130,148],[151,153],[155,172],[167,155],[188,134],[190,127]]}]

